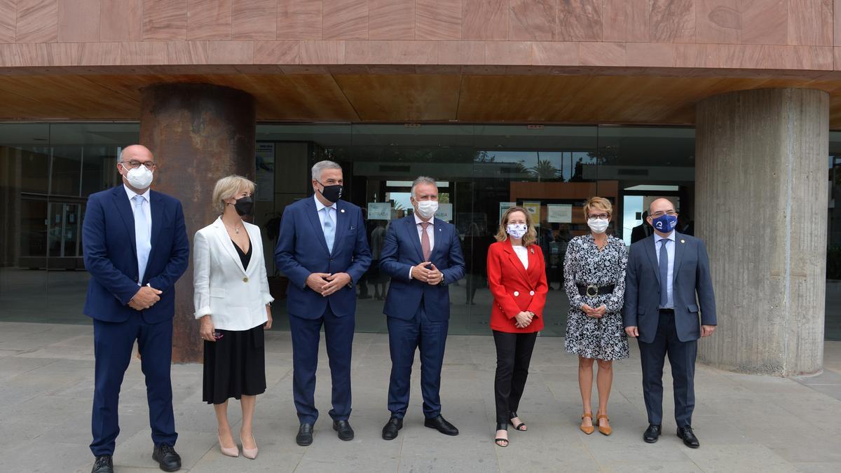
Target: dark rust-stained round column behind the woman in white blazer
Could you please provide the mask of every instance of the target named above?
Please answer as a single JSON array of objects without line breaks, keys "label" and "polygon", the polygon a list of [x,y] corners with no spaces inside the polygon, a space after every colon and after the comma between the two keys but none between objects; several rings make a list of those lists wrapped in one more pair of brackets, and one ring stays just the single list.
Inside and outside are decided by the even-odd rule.
[{"label": "dark rust-stained round column behind the woman in white blazer", "polygon": [[[254,179],[254,98],[232,88],[176,83],[144,88],[140,144],[159,164],[153,189],[181,200],[191,248],[193,234],[219,216],[211,194],[229,174]],[[202,359],[193,318],[193,261],[176,285],[172,361]]]}]

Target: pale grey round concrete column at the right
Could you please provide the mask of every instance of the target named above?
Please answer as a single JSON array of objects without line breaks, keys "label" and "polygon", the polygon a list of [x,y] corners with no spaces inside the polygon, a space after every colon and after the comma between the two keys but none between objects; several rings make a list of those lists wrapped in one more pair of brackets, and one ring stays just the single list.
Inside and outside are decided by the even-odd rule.
[{"label": "pale grey round concrete column at the right", "polygon": [[696,234],[718,328],[707,364],[762,375],[823,363],[829,95],[760,89],[697,106]]}]

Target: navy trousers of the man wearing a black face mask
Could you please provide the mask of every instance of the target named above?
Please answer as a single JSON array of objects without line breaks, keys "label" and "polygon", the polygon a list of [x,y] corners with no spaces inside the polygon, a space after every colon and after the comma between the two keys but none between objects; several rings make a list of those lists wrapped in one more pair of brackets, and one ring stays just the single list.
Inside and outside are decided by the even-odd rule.
[{"label": "navy trousers of the man wearing a black face mask", "polygon": [[317,319],[289,315],[294,367],[293,397],[300,423],[311,424],[318,419],[318,409],[315,408],[315,369],[318,368],[322,325],[333,382],[330,417],[346,421],[351,416],[351,354],[356,319],[352,315],[337,317],[327,306],[325,313]]}]

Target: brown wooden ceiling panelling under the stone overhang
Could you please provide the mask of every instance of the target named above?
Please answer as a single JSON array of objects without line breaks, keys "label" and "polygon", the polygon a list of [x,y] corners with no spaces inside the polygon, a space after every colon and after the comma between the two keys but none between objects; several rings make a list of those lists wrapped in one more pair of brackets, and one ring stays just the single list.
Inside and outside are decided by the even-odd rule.
[{"label": "brown wooden ceiling panelling under the stone overhang", "polygon": [[204,82],[254,95],[261,121],[691,125],[706,97],[808,87],[831,94],[830,125],[841,129],[841,76],[119,72],[0,74],[0,120],[138,120],[140,88]]}]

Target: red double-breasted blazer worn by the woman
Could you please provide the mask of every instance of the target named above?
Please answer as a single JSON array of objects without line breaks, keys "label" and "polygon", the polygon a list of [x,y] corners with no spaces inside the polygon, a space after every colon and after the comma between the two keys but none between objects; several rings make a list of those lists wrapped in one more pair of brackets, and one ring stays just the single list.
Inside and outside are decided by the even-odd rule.
[{"label": "red double-breasted blazer worn by the woman", "polygon": [[[531,333],[543,328],[546,305],[546,263],[538,245],[528,247],[528,269],[517,257],[510,240],[495,242],[488,249],[488,285],[494,295],[490,327],[500,332]],[[534,312],[526,328],[517,328],[514,317],[521,311]]]}]

